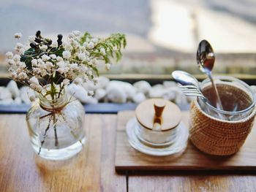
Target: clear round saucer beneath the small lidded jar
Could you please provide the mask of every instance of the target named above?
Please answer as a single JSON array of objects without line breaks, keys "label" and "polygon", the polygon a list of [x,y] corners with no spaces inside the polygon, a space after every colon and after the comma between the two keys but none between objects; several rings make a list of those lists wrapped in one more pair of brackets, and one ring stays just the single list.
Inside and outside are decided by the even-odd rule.
[{"label": "clear round saucer beneath the small lidded jar", "polygon": [[136,118],[132,118],[127,122],[126,131],[129,144],[141,153],[146,153],[148,155],[154,156],[174,155],[184,152],[187,147],[189,130],[183,122],[179,123],[177,127],[176,140],[173,142],[172,145],[168,145],[167,147],[150,147],[148,145],[144,145],[143,142],[140,142],[140,139],[138,139],[137,137],[137,128],[138,121],[136,120]]}]

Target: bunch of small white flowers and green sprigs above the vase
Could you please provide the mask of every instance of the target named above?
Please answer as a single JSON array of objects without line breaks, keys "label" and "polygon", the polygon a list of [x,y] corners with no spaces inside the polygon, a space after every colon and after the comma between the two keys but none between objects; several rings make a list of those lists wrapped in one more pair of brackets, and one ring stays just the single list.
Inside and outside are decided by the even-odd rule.
[{"label": "bunch of small white flowers and green sprigs above the vase", "polygon": [[[15,38],[20,37],[21,34],[15,34]],[[78,84],[92,80],[96,83],[99,75],[97,62],[104,61],[106,68],[110,69],[111,59],[118,61],[121,48],[127,45],[124,34],[99,39],[88,32],[72,31],[67,42],[62,39],[59,34],[54,42],[37,31],[35,36],[29,37],[29,46],[18,42],[15,46],[17,54],[6,54],[12,79],[38,93],[45,93],[51,99],[58,99],[70,82]]]}]

